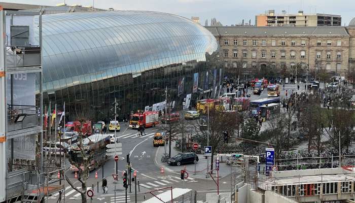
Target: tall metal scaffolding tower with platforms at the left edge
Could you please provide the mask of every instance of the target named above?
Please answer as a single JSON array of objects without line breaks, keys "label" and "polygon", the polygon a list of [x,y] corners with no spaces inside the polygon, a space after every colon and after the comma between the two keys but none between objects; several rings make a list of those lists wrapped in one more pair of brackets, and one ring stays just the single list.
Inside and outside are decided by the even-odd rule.
[{"label": "tall metal scaffolding tower with platforms at the left edge", "polygon": [[42,16],[0,7],[0,29],[0,202],[43,202],[65,181],[43,159]]}]

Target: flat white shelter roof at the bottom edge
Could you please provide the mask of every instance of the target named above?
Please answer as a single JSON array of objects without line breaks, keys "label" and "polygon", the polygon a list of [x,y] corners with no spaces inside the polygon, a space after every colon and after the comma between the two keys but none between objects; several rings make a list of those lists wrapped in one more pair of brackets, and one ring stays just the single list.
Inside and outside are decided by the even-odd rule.
[{"label": "flat white shelter roof at the bottom edge", "polygon": [[189,202],[192,200],[191,191],[192,191],[191,189],[186,189],[186,188],[173,188],[172,195],[171,195],[171,190],[168,190],[166,192],[158,194],[155,197],[152,197],[144,201],[143,203],[158,203],[158,202],[167,203],[167,202],[171,202],[171,196],[174,203]]}]

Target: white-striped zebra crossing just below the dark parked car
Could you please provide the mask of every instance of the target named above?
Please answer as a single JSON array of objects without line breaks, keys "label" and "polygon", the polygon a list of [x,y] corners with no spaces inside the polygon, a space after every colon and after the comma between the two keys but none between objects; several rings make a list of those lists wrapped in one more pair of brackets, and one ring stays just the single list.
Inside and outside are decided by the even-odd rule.
[{"label": "white-striped zebra crossing just below the dark parked car", "polygon": [[[145,176],[144,174],[142,174],[142,175]],[[149,177],[149,176],[146,176],[146,177]],[[149,178],[151,178],[151,177],[149,177]],[[152,181],[141,180],[139,182],[139,186],[150,189],[150,188],[159,188],[162,186],[169,186],[169,185],[183,182],[183,180],[181,180],[180,177],[177,177],[177,176],[159,176],[157,178],[158,179],[152,178],[153,179]],[[197,181],[195,181],[194,178],[190,178],[190,177],[188,177],[184,181],[197,182]]]}]

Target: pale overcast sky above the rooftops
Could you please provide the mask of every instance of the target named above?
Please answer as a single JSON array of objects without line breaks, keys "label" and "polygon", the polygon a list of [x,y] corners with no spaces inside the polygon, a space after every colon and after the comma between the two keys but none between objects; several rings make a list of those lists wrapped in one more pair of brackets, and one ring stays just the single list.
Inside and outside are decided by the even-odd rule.
[{"label": "pale overcast sky above the rooftops", "polygon": [[[2,0],[0,0],[2,1]],[[3,0],[3,2],[38,4],[55,6],[64,0]],[[272,2],[272,3],[271,3]],[[65,0],[68,5],[92,5],[92,0]],[[200,17],[200,22],[215,17],[223,25],[239,24],[252,20],[255,15],[267,10],[281,13],[297,13],[303,9],[304,13],[326,13],[341,15],[342,25],[347,25],[355,17],[355,0],[94,0],[94,6],[100,9],[114,8],[115,10],[149,10],[172,13],[187,18]]]}]

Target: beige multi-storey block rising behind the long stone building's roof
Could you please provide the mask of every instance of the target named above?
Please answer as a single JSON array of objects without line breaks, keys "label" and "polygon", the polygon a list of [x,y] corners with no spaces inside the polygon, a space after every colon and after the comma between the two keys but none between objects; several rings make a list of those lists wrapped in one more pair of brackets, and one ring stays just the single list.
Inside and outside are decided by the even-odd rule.
[{"label": "beige multi-storey block rising behind the long stone building's roof", "polygon": [[297,14],[289,14],[285,11],[276,14],[275,10],[269,10],[265,14],[255,16],[256,26],[340,26],[341,16],[331,14],[305,14],[298,11]]}]

